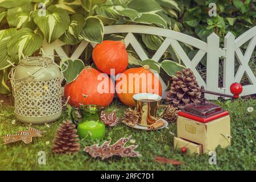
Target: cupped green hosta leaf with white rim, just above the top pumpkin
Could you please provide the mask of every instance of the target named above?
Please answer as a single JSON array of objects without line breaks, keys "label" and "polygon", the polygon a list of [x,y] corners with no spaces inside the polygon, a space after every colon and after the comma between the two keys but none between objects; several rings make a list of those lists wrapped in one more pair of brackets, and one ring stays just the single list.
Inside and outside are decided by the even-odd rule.
[{"label": "cupped green hosta leaf with white rim, just above the top pumpkin", "polygon": [[104,25],[101,20],[95,16],[89,16],[85,19],[85,26],[82,28],[80,39],[88,42],[101,43],[104,36]]}]

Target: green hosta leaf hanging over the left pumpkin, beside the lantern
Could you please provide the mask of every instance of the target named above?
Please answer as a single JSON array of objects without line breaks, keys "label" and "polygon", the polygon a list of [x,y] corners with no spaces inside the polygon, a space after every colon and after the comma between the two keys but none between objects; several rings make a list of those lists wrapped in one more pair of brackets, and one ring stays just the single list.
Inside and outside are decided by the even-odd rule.
[{"label": "green hosta leaf hanging over the left pumpkin, beside the lantern", "polygon": [[68,84],[76,80],[80,75],[82,69],[84,69],[84,62],[82,60],[65,60],[60,64],[61,70],[63,71],[63,76]]}]

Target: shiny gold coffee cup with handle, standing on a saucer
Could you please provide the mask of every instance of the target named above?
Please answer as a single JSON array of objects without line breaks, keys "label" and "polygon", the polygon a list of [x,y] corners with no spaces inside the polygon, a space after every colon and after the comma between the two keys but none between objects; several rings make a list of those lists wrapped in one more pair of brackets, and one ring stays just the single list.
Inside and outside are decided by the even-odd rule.
[{"label": "shiny gold coffee cup with handle, standing on a saucer", "polygon": [[[162,97],[157,94],[138,93],[133,95],[133,99],[135,101],[137,112],[141,113],[141,121],[138,122],[141,126],[152,125],[162,118],[167,111],[167,106],[160,105]],[[164,112],[157,117],[156,111],[161,107],[165,107]]]}]

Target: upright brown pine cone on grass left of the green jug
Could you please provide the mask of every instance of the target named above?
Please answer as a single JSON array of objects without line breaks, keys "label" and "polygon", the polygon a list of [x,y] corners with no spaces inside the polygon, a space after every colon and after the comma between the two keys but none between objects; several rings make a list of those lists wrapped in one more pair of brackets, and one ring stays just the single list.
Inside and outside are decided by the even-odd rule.
[{"label": "upright brown pine cone on grass left of the green jug", "polygon": [[53,140],[52,151],[55,154],[73,154],[80,150],[76,126],[71,121],[63,122],[57,129]]}]

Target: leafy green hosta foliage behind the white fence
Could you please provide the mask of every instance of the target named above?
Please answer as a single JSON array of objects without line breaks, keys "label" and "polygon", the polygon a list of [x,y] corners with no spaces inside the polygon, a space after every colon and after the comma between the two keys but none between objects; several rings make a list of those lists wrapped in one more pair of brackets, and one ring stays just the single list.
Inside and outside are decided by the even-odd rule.
[{"label": "leafy green hosta foliage behind the white fence", "polygon": [[[46,3],[46,14],[40,9]],[[208,15],[209,3],[216,3],[217,16]],[[146,24],[148,26],[168,28],[206,40],[215,32],[224,42],[224,35],[231,31],[239,36],[255,25],[256,2],[252,0],[5,0],[0,1],[0,70],[7,72],[10,63],[18,64],[24,56],[39,55],[43,41],[52,43],[60,39],[67,54],[76,49],[82,40],[101,43],[102,40],[122,40],[126,34],[106,35],[104,26],[112,24]],[[156,35],[135,34],[148,57],[163,43]],[[9,41],[11,40],[11,41]],[[184,51],[192,58],[196,49],[180,43]],[[246,44],[243,45],[246,48]],[[132,47],[129,52],[129,67],[143,65]],[[92,61],[92,47],[87,47],[80,57],[85,65]],[[8,61],[7,61],[8,60]],[[173,60],[172,70],[163,67],[163,60]],[[147,63],[150,61],[146,60]],[[152,61],[151,61],[152,63]],[[160,64],[151,64],[151,68],[160,71],[168,81],[172,72],[182,64],[180,57],[170,46],[164,53]],[[164,62],[166,63],[166,62]],[[171,62],[170,62],[171,63]],[[205,78],[206,56],[197,69]],[[253,62],[255,65],[255,61]],[[164,72],[166,71],[166,72]],[[2,73],[1,73],[2,74]],[[243,79],[246,82],[246,79]],[[220,82],[221,82],[220,78]],[[6,84],[0,83],[0,86]]]}]

